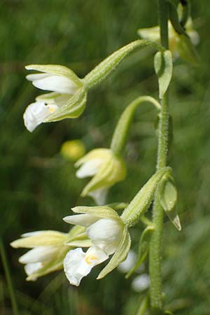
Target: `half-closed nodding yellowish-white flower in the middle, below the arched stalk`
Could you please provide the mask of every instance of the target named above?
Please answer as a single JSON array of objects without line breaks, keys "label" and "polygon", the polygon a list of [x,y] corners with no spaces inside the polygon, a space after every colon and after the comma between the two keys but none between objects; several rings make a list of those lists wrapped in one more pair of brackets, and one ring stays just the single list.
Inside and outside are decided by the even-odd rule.
[{"label": "half-closed nodding yellowish-white flower in the middle, below the arched stalk", "polygon": [[104,204],[109,188],[126,176],[123,159],[108,148],[90,151],[75,166],[80,167],[76,172],[79,179],[93,176],[81,195],[93,197],[97,204]]}]

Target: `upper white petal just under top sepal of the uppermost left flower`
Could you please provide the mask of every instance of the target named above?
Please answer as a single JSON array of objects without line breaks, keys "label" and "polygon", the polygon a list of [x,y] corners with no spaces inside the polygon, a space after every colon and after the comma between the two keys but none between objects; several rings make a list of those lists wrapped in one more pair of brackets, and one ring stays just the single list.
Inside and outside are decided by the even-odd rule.
[{"label": "upper white petal just under top sepal of the uppermost left flower", "polygon": [[48,75],[44,78],[33,80],[33,85],[41,90],[48,90],[64,94],[73,94],[78,89],[78,86],[65,76]]}]

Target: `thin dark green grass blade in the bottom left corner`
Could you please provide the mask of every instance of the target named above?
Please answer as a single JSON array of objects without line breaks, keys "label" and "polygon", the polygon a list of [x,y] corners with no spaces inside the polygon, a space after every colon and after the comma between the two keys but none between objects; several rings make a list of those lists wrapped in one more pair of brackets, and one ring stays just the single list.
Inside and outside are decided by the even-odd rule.
[{"label": "thin dark green grass blade in the bottom left corner", "polygon": [[17,300],[15,298],[15,292],[14,292],[14,288],[13,288],[13,281],[12,281],[12,277],[10,274],[10,270],[8,267],[8,261],[6,258],[6,252],[3,246],[3,241],[0,238],[0,253],[1,253],[1,260],[2,260],[2,265],[3,265],[3,269],[5,272],[5,276],[6,276],[6,281],[8,284],[8,293],[10,295],[10,300],[11,300],[11,304],[13,307],[13,315],[18,315],[18,304],[17,304]]}]

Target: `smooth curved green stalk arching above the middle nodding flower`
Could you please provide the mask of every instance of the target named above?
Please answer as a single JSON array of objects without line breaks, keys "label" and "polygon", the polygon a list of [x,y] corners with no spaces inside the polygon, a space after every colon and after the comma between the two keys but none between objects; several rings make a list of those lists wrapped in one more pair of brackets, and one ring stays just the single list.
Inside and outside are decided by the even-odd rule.
[{"label": "smooth curved green stalk arching above the middle nodding flower", "polygon": [[134,99],[134,101],[126,107],[125,111],[123,111],[123,114],[120,116],[118,124],[116,125],[116,129],[113,133],[113,137],[111,140],[111,150],[116,155],[120,155],[123,151],[123,148],[125,147],[127,133],[130,128],[132,118],[134,116],[134,111],[140,104],[145,102],[153,104],[156,109],[158,109],[158,111],[161,110],[160,103],[158,103],[156,99],[153,99],[153,97],[142,96]]}]

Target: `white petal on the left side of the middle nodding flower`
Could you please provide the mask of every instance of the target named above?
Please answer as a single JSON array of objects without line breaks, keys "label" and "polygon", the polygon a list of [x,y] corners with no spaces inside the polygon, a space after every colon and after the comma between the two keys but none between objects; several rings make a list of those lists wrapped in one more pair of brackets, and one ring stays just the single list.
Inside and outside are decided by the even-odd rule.
[{"label": "white petal on the left side of the middle nodding flower", "polygon": [[100,158],[88,160],[78,169],[76,177],[78,177],[78,179],[83,179],[85,177],[94,176],[97,174],[103,162],[104,160]]}]

